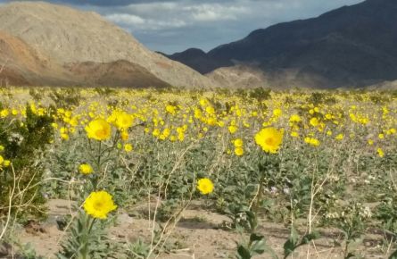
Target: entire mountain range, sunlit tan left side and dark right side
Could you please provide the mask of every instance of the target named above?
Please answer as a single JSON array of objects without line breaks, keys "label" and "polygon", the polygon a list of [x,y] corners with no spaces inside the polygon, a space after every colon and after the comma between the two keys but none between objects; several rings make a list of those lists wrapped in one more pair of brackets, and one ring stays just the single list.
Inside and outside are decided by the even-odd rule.
[{"label": "entire mountain range, sunlit tan left side and dark right side", "polygon": [[367,0],[166,55],[97,13],[12,2],[0,6],[0,86],[395,88],[396,13],[397,0]]}]

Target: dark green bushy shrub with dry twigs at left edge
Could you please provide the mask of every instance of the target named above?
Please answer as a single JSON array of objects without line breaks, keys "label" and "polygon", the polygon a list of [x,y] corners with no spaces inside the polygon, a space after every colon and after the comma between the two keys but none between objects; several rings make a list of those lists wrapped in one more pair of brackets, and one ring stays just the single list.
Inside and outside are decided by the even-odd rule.
[{"label": "dark green bushy shrub with dry twigs at left edge", "polygon": [[[43,215],[41,157],[53,138],[52,121],[50,114],[39,115],[29,106],[24,120],[9,117],[0,120],[2,158],[11,161],[10,166],[3,164],[0,172],[0,215],[7,212],[11,197],[12,213],[18,213],[20,220]],[[18,189],[11,196],[14,181]]]}]

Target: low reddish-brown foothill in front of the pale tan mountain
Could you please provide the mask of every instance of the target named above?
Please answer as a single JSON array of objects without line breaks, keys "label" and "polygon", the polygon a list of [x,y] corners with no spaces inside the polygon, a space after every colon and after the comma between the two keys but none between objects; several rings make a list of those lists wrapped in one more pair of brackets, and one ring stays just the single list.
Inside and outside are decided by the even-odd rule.
[{"label": "low reddish-brown foothill in front of the pale tan mountain", "polygon": [[0,31],[0,85],[167,87],[144,67],[128,61],[70,63],[62,66]]}]

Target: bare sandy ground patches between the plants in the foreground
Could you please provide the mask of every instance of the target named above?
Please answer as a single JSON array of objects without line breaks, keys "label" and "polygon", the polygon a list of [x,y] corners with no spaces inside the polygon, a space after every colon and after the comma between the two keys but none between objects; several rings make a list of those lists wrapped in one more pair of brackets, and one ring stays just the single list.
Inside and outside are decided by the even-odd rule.
[{"label": "bare sandy ground patches between the plants in the foreground", "polygon": [[[70,213],[69,202],[65,200],[51,200],[49,202],[49,220],[42,224],[29,225],[21,230],[19,238],[22,243],[30,243],[38,255],[45,258],[54,258],[54,253],[59,249],[59,242],[64,232],[58,230],[55,219]],[[236,242],[242,236],[236,231],[225,230],[219,226],[229,219],[219,213],[211,213],[194,206],[187,209],[181,220],[172,230],[168,243],[178,244],[171,249],[169,254],[161,254],[160,259],[211,259],[211,258],[236,258]],[[117,225],[109,231],[110,238],[114,242],[134,242],[137,238],[150,240],[153,221],[131,217],[128,213],[118,215]],[[283,253],[283,245],[289,236],[289,230],[282,225],[270,222],[261,222],[260,232],[267,238],[269,246],[272,246],[280,258]],[[317,239],[310,246],[302,246],[301,249],[289,258],[343,258],[342,248],[335,246],[335,240],[343,239],[338,230],[322,230],[323,238]],[[363,257],[359,258],[385,258],[385,252],[380,249],[381,233],[373,233],[366,236],[362,245],[357,246],[357,252]],[[155,256],[153,256],[154,258]],[[270,258],[269,255],[259,255],[255,258]]]}]

